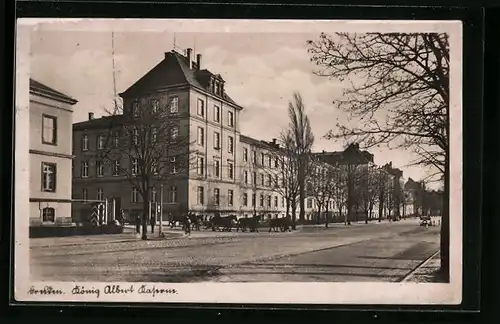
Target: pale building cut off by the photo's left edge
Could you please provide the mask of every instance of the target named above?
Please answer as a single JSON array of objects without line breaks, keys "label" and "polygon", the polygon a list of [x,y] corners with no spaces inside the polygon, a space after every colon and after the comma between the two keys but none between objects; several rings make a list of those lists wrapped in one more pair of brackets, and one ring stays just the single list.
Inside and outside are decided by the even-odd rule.
[{"label": "pale building cut off by the photo's left edge", "polygon": [[71,223],[71,126],[76,103],[30,79],[31,226]]}]

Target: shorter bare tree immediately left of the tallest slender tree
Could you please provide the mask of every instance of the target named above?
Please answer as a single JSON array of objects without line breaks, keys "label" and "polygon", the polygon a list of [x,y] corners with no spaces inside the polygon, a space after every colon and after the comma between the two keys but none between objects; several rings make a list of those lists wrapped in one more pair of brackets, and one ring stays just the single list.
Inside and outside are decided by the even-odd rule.
[{"label": "shorter bare tree immediately left of the tallest slender tree", "polygon": [[299,154],[292,130],[284,130],[278,141],[279,146],[271,151],[271,158],[277,167],[267,168],[271,176],[272,188],[279,193],[286,204],[286,215],[292,214],[292,229],[296,229],[297,204],[300,197]]}]

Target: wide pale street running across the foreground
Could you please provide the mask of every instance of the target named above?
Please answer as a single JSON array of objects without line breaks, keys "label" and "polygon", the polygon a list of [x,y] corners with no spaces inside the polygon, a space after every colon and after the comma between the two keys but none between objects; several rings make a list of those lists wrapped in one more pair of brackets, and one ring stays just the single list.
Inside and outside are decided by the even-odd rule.
[{"label": "wide pale street running across the foreground", "polygon": [[150,241],[87,238],[61,245],[62,238],[52,245],[32,239],[30,270],[33,280],[52,281],[397,282],[439,248],[439,226],[418,223],[335,224],[285,233],[201,231]]}]

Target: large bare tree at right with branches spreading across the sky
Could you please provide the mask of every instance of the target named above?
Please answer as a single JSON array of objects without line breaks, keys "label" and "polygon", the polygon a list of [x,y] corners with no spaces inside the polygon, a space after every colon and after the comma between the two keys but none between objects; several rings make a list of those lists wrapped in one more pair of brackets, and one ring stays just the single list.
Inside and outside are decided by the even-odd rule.
[{"label": "large bare tree at right with branches spreading across the sky", "polygon": [[449,280],[449,43],[442,33],[322,33],[308,41],[318,75],[348,79],[341,109],[357,119],[329,137],[412,148],[444,180],[441,268]]}]

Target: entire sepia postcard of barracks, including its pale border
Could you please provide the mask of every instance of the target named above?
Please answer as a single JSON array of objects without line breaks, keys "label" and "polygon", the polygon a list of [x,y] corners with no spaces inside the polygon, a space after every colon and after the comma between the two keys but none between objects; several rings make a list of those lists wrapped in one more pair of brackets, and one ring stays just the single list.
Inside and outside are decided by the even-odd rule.
[{"label": "entire sepia postcard of barracks, including its pale border", "polygon": [[461,28],[19,19],[16,299],[460,303]]}]

